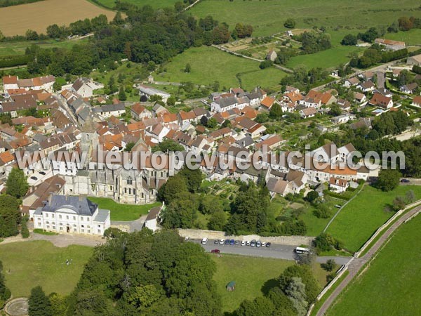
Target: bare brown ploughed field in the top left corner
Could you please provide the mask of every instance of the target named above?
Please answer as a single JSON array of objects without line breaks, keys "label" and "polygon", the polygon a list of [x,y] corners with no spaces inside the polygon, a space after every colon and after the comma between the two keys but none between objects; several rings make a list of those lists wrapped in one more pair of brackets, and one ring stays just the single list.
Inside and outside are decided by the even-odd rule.
[{"label": "bare brown ploughed field in the top left corner", "polygon": [[45,33],[48,25],[69,25],[76,20],[95,18],[100,14],[112,20],[115,12],[86,0],[46,0],[0,8],[0,30],[5,36],[23,35],[27,29]]}]

